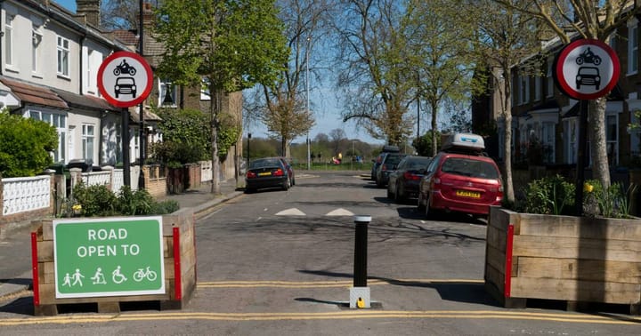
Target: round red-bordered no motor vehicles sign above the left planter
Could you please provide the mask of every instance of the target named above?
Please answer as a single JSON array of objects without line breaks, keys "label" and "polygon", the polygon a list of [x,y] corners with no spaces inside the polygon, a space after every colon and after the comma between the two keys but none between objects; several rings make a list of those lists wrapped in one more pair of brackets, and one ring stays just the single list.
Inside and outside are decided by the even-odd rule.
[{"label": "round red-bordered no motor vehicles sign above the left planter", "polygon": [[118,108],[142,103],[149,96],[152,84],[149,63],[135,52],[114,52],[98,69],[98,90]]}]

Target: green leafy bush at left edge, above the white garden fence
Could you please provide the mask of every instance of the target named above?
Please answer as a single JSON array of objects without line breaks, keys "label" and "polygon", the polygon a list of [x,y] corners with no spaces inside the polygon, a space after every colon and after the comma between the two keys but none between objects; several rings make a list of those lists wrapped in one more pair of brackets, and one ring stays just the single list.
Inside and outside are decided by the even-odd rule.
[{"label": "green leafy bush at left edge, above the white garden fence", "polygon": [[58,147],[52,125],[0,112],[0,173],[2,177],[35,176],[53,164],[49,152]]}]

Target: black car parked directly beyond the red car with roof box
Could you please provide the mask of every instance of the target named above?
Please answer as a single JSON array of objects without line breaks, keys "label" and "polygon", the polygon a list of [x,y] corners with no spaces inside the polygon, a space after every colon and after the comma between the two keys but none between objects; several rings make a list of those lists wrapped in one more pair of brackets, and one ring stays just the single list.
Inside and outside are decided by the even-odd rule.
[{"label": "black car parked directly beyond the red car with roof box", "polygon": [[405,156],[389,174],[387,197],[396,202],[418,196],[418,185],[426,173],[427,165],[432,161],[429,156]]}]

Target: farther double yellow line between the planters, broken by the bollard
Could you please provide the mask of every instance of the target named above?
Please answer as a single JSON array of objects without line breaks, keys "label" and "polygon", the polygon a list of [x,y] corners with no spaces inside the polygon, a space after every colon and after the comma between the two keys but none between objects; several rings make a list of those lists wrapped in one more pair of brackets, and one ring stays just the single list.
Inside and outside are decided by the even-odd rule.
[{"label": "farther double yellow line between the planters, broken by the bollard", "polygon": [[[383,284],[483,284],[477,279],[370,279],[370,285]],[[251,288],[251,287],[277,287],[277,288],[326,288],[326,287],[351,287],[353,280],[336,281],[205,281],[199,282],[199,288]]]}]

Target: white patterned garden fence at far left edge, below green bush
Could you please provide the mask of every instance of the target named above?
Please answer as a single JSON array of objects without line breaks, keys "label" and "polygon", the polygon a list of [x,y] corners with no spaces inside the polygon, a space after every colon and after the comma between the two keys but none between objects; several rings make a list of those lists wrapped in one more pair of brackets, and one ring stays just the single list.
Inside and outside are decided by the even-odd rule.
[{"label": "white patterned garden fence at far left edge, below green bush", "polygon": [[49,175],[2,179],[3,215],[47,208],[51,202]]}]

